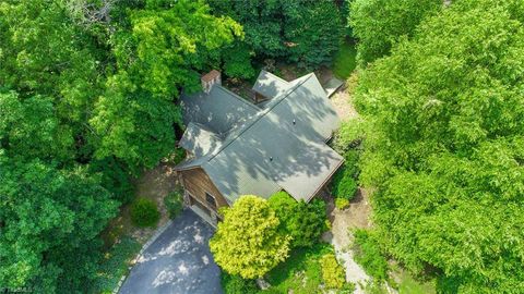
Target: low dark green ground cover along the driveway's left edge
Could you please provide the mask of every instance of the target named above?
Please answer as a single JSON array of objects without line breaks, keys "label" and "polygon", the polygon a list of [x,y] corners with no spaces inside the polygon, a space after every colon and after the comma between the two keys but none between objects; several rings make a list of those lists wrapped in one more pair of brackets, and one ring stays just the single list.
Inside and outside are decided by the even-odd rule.
[{"label": "low dark green ground cover along the driveway's left edge", "polygon": [[130,260],[141,248],[142,245],[132,237],[123,237],[115,244],[102,260],[97,279],[92,284],[90,293],[111,293],[120,278],[127,273]]}]

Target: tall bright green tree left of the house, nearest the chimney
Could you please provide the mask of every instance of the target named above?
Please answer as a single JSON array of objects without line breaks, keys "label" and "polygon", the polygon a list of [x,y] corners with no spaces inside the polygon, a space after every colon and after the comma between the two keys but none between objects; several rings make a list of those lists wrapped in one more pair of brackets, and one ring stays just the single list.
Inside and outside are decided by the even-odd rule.
[{"label": "tall bright green tree left of the house, nearest the chimney", "polygon": [[199,71],[242,30],[229,17],[211,15],[202,1],[148,1],[129,17],[129,27],[110,41],[117,71],[90,123],[99,138],[98,158],[115,156],[130,167],[151,168],[174,148],[180,89],[198,90]]}]

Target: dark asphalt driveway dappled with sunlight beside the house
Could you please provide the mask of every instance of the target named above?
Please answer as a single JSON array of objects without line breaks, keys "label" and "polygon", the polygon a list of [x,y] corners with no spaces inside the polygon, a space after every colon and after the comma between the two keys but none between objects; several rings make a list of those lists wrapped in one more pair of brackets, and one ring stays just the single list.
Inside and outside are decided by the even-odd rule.
[{"label": "dark asphalt driveway dappled with sunlight beside the house", "polygon": [[221,270],[207,245],[212,234],[210,224],[186,209],[144,250],[119,293],[222,294]]}]

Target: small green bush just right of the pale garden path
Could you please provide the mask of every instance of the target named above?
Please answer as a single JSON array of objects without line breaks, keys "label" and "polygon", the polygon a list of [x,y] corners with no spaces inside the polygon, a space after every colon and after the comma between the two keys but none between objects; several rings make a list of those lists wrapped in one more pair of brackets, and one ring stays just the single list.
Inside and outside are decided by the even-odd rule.
[{"label": "small green bush just right of the pale garden path", "polygon": [[355,231],[355,261],[360,264],[366,272],[382,281],[388,278],[388,260],[382,255],[379,243],[366,230]]}]

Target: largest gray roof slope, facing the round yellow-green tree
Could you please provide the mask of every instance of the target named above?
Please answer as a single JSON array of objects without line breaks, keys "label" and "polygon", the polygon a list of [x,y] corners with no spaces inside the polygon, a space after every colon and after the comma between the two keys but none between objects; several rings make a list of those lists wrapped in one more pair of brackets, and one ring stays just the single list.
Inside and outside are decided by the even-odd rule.
[{"label": "largest gray roof slope, facing the round yellow-green tree", "polygon": [[263,110],[238,120],[215,150],[177,168],[201,167],[229,203],[281,188],[309,200],[343,162],[324,143],[337,125],[324,89],[309,74],[290,82]]}]

